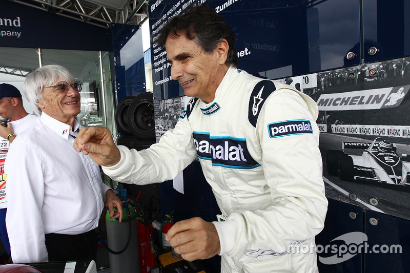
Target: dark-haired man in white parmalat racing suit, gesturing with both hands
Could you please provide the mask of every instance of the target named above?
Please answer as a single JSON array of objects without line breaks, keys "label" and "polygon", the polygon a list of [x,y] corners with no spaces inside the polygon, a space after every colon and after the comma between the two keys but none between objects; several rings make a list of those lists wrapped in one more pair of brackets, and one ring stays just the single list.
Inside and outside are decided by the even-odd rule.
[{"label": "dark-haired man in white parmalat racing suit, gesturing with both hands", "polygon": [[[159,45],[167,49],[172,78],[193,97],[175,128],[139,152],[115,146],[108,129],[81,129],[74,148],[114,180],[138,184],[173,179],[199,158],[222,221],[175,223],[167,239],[182,258],[219,254],[221,272],[317,272],[314,237],[327,200],[316,103],[237,70],[234,33],[213,9],[196,6],[174,18]],[[226,32],[203,27],[222,32],[207,49],[197,28],[189,28],[195,22]]]}]

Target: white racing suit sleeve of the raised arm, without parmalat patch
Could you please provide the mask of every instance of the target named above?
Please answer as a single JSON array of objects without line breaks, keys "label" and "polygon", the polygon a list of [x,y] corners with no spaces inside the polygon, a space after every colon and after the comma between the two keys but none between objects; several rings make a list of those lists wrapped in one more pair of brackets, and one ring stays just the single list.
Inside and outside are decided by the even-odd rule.
[{"label": "white racing suit sleeve of the raised arm, without parmalat patch", "polygon": [[191,125],[187,117],[179,119],[158,143],[142,151],[118,146],[120,161],[103,171],[124,183],[149,184],[174,179],[196,157]]}]

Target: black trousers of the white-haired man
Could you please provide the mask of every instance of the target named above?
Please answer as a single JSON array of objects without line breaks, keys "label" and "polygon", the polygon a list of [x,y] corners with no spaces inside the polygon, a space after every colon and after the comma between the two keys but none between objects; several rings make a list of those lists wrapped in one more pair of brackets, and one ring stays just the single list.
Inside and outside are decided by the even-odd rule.
[{"label": "black trousers of the white-haired man", "polygon": [[46,234],[49,262],[97,261],[97,236],[94,230],[78,235]]}]

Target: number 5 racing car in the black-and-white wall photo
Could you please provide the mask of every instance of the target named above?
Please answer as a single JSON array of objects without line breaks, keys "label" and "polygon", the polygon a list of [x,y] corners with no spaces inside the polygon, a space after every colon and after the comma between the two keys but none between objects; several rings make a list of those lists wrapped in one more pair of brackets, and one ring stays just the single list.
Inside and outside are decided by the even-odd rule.
[{"label": "number 5 racing car in the black-and-white wall photo", "polygon": [[[361,155],[348,155],[347,149],[363,150]],[[397,154],[395,144],[377,137],[371,143],[342,142],[342,151],[328,150],[326,170],[343,181],[374,181],[410,185],[410,155]]]}]

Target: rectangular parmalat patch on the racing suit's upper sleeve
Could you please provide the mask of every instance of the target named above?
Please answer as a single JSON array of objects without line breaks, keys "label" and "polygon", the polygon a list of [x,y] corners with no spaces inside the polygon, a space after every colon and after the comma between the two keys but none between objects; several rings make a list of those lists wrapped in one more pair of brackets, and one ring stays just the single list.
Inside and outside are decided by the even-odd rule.
[{"label": "rectangular parmalat patch on the racing suit's upper sleeve", "polygon": [[271,138],[299,134],[313,134],[311,122],[303,119],[269,123],[268,130]]}]

